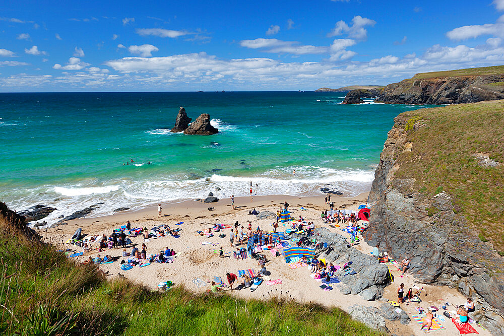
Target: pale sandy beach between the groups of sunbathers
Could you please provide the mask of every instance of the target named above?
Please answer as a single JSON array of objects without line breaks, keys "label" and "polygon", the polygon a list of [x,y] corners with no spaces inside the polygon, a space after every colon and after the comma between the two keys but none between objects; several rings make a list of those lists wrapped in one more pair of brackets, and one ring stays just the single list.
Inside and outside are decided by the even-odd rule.
[{"label": "pale sandy beach between the groups of sunbathers", "polygon": [[[334,202],[335,209],[349,209],[357,210],[361,204],[366,204],[367,193],[359,194],[355,197],[337,197],[331,195],[331,200]],[[233,247],[230,246],[229,232],[231,229],[224,229],[216,233],[213,237],[200,236],[196,231],[204,231],[215,223],[234,224],[236,221],[245,228],[248,221],[251,222],[252,227],[255,229],[260,227],[264,231],[273,231],[273,220],[259,220],[254,215],[249,215],[248,212],[254,208],[259,211],[273,211],[276,212],[280,206],[287,201],[289,203],[289,211],[291,216],[298,219],[302,216],[306,221],[313,221],[316,227],[326,227],[332,232],[337,232],[342,236],[349,239],[349,234],[340,230],[340,228],[330,227],[324,224],[320,218],[323,210],[329,208],[325,204],[324,195],[321,196],[286,196],[286,195],[270,195],[270,196],[256,196],[253,200],[250,197],[235,197],[235,209],[231,208],[231,201],[229,198],[221,199],[217,203],[204,204],[200,201],[187,200],[177,204],[162,204],[163,216],[158,217],[157,206],[148,207],[141,211],[136,212],[123,212],[112,216],[97,217],[97,218],[84,218],[69,221],[67,225],[62,225],[54,228],[41,231],[42,236],[48,242],[70,248],[77,252],[81,249],[77,246],[70,244],[62,244],[67,241],[74,234],[77,228],[82,228],[82,233],[86,235],[110,235],[114,228],[119,228],[124,225],[127,220],[132,223],[134,227],[146,227],[148,229],[166,224],[172,228],[181,228],[179,238],[174,238],[171,235],[159,237],[157,239],[150,238],[144,241],[142,236],[131,238],[134,245],[141,249],[142,243],[147,246],[147,255],[157,254],[165,247],[174,249],[180,254],[175,258],[173,263],[152,263],[145,267],[133,267],[132,270],[122,271],[119,268],[119,262],[122,259],[122,248],[106,249],[98,252],[98,249],[87,252],[82,256],[76,257],[76,261],[84,261],[89,256],[95,257],[100,254],[104,257],[106,254],[110,256],[120,256],[119,261],[111,264],[100,265],[109,277],[124,276],[134,282],[147,285],[149,288],[157,289],[157,284],[164,281],[172,281],[175,286],[183,285],[188,289],[195,292],[206,291],[210,288],[206,285],[198,288],[194,283],[194,279],[202,279],[208,281],[213,276],[220,276],[225,281],[226,273],[238,274],[238,270],[247,270],[253,268],[259,271],[260,266],[255,259],[240,259],[233,258],[233,251],[240,246],[236,243]],[[207,208],[213,207],[209,211]],[[301,210],[301,208],[305,210]],[[175,226],[176,223],[183,222],[183,224]],[[284,231],[290,227],[289,223],[279,223],[278,231]],[[285,224],[285,225],[284,225]],[[224,233],[226,237],[219,238],[219,234]],[[349,241],[349,240],[348,240]],[[202,242],[210,242],[210,244],[203,245]],[[245,245],[242,245],[243,247]],[[97,247],[97,243],[95,243]],[[219,257],[219,249],[223,248],[224,257]],[[133,245],[129,245],[128,252],[131,252]],[[368,246],[363,239],[360,243],[355,245],[354,248],[360,250],[362,253],[369,253],[372,247]],[[404,278],[396,278],[395,281],[389,285],[384,291],[384,298],[377,301],[366,301],[359,295],[343,295],[339,291],[339,286],[335,285],[332,291],[323,291],[319,288],[320,282],[310,277],[310,267],[301,267],[291,270],[289,265],[285,263],[282,256],[273,256],[271,251],[265,251],[267,259],[267,270],[271,273],[269,276],[271,280],[281,279],[282,283],[277,285],[268,286],[263,283],[254,292],[249,289],[229,290],[225,292],[241,298],[256,298],[267,299],[270,296],[280,295],[292,298],[301,302],[319,303],[327,307],[340,307],[345,311],[349,311],[349,307],[353,305],[374,306],[379,307],[383,301],[397,300],[397,287],[402,282],[405,284],[405,289],[413,285],[423,287],[424,290],[421,294],[423,302],[418,303],[403,303],[401,308],[404,309],[411,317],[416,314],[416,307],[418,305],[426,309],[428,306],[440,306],[446,302],[453,304],[464,304],[465,298],[458,293],[455,289],[448,287],[436,287],[426,284],[421,284],[413,276],[407,275]],[[328,260],[332,261],[332,260]],[[386,299],[386,300],[385,300]],[[449,310],[454,309],[453,306]],[[440,310],[440,314],[443,310]],[[457,334],[458,331],[446,318],[442,322],[446,330],[440,330],[436,333],[439,334]],[[423,334],[419,330],[418,324],[412,319],[409,325],[400,324],[399,321],[388,322],[389,329],[396,334]],[[481,327],[473,324],[473,326],[482,335],[489,335],[488,331],[483,330]]]}]

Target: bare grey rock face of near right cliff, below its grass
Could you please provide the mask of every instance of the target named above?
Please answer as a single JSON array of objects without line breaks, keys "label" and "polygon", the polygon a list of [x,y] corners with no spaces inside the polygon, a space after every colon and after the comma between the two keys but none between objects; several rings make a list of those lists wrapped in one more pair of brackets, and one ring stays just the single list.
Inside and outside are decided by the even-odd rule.
[{"label": "bare grey rock face of near right cliff, below its grass", "polygon": [[[408,256],[409,272],[421,281],[453,286],[472,297],[476,311],[471,314],[492,334],[504,335],[503,258],[456,214],[448,193],[427,198],[414,191],[412,179],[395,174],[400,168],[395,160],[408,146],[407,118],[399,115],[394,121],[374,173],[364,239],[371,246],[380,242],[395,259]],[[429,208],[439,211],[428,216]]]}]

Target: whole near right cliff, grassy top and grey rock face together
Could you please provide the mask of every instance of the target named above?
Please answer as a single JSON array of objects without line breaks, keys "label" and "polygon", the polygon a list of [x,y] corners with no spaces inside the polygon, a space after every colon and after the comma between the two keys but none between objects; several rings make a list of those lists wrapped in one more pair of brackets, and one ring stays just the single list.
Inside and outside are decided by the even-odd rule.
[{"label": "whole near right cliff, grassy top and grey rock face together", "polygon": [[369,194],[364,239],[408,256],[422,281],[457,288],[504,335],[504,101],[400,114]]}]

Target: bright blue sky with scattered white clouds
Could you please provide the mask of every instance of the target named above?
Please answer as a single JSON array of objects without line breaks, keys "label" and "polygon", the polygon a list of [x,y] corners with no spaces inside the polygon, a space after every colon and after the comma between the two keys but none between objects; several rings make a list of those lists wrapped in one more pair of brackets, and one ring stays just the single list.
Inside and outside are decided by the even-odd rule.
[{"label": "bright blue sky with scattered white clouds", "polygon": [[314,90],[504,64],[504,0],[4,1],[0,91]]}]

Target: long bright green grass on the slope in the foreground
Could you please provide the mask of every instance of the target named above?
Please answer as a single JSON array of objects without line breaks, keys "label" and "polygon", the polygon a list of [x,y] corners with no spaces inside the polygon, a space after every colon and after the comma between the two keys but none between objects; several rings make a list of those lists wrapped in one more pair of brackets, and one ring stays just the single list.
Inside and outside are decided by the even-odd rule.
[{"label": "long bright green grass on the slope in the foreground", "polygon": [[[0,218],[0,334],[379,335],[340,309],[279,296],[164,293],[108,280]],[[302,284],[300,284],[302,286]],[[285,296],[285,293],[284,293]]]}]

